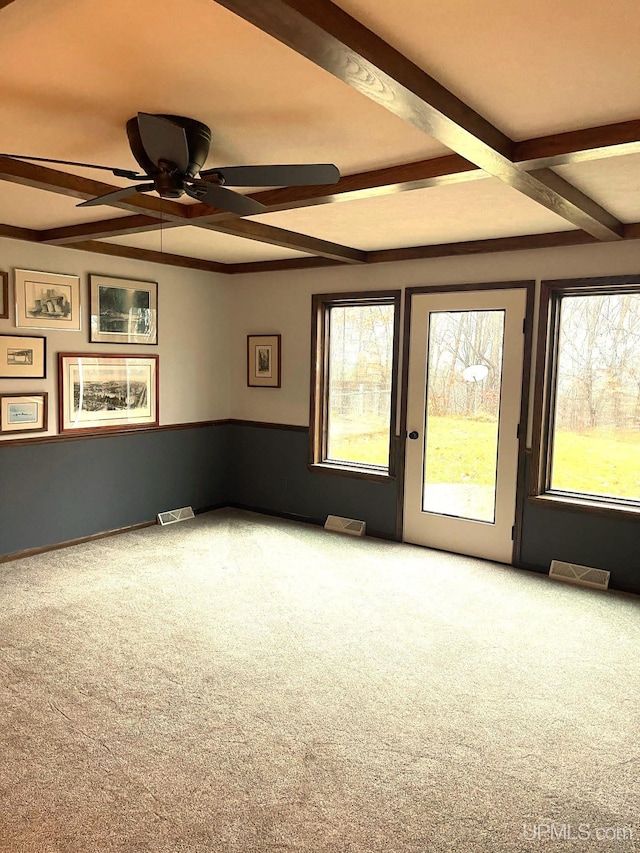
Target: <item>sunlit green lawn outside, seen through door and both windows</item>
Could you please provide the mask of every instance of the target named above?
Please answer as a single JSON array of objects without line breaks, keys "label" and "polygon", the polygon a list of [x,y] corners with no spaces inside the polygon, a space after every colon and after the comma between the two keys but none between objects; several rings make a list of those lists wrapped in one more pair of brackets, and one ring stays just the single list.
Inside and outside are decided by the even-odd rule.
[{"label": "sunlit green lawn outside, seen through door and both windows", "polygon": [[[429,425],[429,482],[493,484],[492,424],[432,417]],[[388,432],[379,421],[344,424],[334,436],[334,459],[387,464]],[[559,431],[552,485],[566,491],[640,499],[640,432]]]}]

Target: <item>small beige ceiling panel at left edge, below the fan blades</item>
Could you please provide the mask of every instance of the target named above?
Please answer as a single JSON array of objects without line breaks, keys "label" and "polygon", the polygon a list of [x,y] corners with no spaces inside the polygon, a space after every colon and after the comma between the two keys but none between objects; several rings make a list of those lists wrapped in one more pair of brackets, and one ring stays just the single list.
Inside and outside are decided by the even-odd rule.
[{"label": "small beige ceiling panel at left edge, below the fan blades", "polygon": [[18,228],[59,228],[96,219],[130,216],[113,207],[76,207],[80,199],[0,181],[0,222]]}]

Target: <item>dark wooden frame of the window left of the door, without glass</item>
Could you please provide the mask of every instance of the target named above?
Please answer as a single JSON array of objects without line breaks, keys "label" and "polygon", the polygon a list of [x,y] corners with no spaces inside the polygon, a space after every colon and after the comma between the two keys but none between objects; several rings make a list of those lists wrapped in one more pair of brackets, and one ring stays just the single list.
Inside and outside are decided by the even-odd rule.
[{"label": "dark wooden frame of the window left of the door, without glass", "polygon": [[[348,293],[316,293],[311,301],[311,399],[309,413],[310,471],[359,477],[367,480],[393,480],[397,464],[398,365],[400,357],[401,290],[368,290]],[[389,417],[389,466],[339,462],[326,458],[329,419],[329,344],[332,308],[393,305],[393,349],[391,362],[391,406]]]}]

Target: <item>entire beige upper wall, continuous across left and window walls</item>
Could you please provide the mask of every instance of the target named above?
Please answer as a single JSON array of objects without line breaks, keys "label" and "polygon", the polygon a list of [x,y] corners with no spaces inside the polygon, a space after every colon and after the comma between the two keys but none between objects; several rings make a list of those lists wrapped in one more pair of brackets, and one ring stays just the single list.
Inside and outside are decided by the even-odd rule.
[{"label": "entire beige upper wall, continuous across left and window walls", "polygon": [[[47,379],[0,380],[0,393],[49,392],[50,434],[57,432],[57,353],[89,351],[159,353],[161,424],[232,417],[306,426],[313,293],[640,274],[640,240],[396,264],[222,276],[0,239],[0,270],[14,268],[75,274],[82,281],[83,330],[47,335]],[[120,348],[88,343],[89,273],[158,282],[157,347]],[[39,334],[37,330],[16,330],[12,287],[10,303],[11,317],[0,320],[0,334]],[[248,388],[246,336],[269,333],[282,335],[282,387]]]}]

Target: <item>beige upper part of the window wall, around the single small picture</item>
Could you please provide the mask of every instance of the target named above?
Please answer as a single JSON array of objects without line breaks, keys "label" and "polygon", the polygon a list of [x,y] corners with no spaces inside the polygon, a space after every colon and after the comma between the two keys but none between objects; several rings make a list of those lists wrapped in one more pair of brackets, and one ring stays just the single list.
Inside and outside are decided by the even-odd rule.
[{"label": "beige upper part of the window wall, around the single small picture", "polygon": [[[635,273],[640,274],[640,240],[234,276],[231,417],[308,425],[313,293]],[[247,388],[247,334],[276,332],[282,335],[282,387]]]}]

